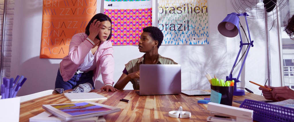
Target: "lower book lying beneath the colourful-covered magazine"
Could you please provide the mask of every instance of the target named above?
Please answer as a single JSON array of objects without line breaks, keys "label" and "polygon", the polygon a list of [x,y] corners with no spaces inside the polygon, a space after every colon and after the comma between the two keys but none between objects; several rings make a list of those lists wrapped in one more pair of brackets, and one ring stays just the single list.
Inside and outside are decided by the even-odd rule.
[{"label": "lower book lying beneath the colourful-covered magazine", "polygon": [[78,119],[73,121],[65,121],[48,111],[44,111],[30,118],[30,122],[106,122],[103,116],[95,116],[90,118]]}]

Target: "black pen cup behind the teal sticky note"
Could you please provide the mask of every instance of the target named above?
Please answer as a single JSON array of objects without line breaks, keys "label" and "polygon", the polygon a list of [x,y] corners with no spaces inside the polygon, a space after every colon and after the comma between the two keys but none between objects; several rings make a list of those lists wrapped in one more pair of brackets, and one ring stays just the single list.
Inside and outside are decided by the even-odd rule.
[{"label": "black pen cup behind the teal sticky note", "polygon": [[232,106],[234,86],[230,86],[230,87],[211,86],[211,90],[214,90],[221,94],[220,104]]}]

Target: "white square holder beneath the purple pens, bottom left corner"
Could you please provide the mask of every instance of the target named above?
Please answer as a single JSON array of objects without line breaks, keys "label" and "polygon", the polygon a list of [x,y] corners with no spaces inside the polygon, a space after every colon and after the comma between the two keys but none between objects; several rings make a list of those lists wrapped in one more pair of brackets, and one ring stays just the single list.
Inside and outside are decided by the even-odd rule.
[{"label": "white square holder beneath the purple pens, bottom left corner", "polygon": [[19,122],[20,97],[0,99],[0,120]]}]

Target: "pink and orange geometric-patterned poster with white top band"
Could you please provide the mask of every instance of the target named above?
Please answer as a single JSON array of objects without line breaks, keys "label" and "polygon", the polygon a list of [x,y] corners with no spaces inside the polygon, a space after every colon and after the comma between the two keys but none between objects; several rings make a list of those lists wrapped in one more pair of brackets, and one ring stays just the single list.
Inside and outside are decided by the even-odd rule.
[{"label": "pink and orange geometric-patterned poster with white top band", "polygon": [[152,0],[105,0],[112,21],[112,45],[138,45],[143,28],[152,26]]}]

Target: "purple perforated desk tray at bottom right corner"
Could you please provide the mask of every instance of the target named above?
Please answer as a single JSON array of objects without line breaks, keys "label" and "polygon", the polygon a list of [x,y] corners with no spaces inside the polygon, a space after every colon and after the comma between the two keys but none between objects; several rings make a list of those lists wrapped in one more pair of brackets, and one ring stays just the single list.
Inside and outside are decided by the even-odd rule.
[{"label": "purple perforated desk tray at bottom right corner", "polygon": [[253,110],[253,120],[260,122],[294,122],[294,109],[245,99],[240,108]]}]

